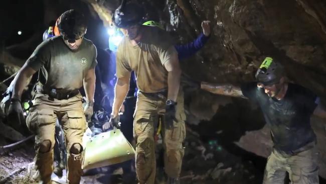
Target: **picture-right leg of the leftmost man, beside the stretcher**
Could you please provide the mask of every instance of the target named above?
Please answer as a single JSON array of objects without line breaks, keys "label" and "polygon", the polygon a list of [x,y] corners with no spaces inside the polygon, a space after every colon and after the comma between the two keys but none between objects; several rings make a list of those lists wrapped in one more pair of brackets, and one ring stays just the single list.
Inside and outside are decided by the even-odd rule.
[{"label": "picture-right leg of the leftmost man, beside the stretcher", "polygon": [[86,130],[86,118],[78,96],[68,99],[68,105],[63,107],[61,122],[66,138],[67,148],[67,182],[77,184],[82,174],[82,138]]}]

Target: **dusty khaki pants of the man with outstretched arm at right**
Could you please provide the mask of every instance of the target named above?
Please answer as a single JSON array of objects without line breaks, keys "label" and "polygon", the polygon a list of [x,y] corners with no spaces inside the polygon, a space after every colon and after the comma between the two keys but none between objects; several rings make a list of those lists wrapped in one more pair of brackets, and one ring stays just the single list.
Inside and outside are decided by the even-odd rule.
[{"label": "dusty khaki pants of the man with outstretched arm at right", "polygon": [[317,184],[319,183],[317,160],[315,147],[296,155],[286,155],[273,149],[267,159],[263,183],[283,184],[287,171],[292,184]]}]

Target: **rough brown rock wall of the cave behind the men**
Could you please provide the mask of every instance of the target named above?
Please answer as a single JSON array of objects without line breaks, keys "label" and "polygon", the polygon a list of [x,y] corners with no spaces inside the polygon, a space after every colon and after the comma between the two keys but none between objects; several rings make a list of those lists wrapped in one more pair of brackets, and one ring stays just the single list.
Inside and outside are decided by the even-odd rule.
[{"label": "rough brown rock wall of the cave behind the men", "polygon": [[[119,0],[44,1],[46,20],[59,16],[64,8],[86,3],[89,16],[111,23]],[[52,3],[51,3],[52,2]],[[322,0],[138,0],[147,17],[158,20],[176,38],[192,41],[201,32],[202,20],[210,20],[212,35],[194,57],[183,61],[183,71],[192,78],[209,82],[239,84],[253,81],[254,72],[266,56],[281,62],[290,81],[310,88],[325,100],[326,84],[326,2]],[[55,6],[52,9],[49,7]],[[35,27],[44,31],[40,25]],[[39,34],[38,33],[38,34]],[[20,49],[35,48],[41,37],[21,46],[5,49],[0,62],[22,65]],[[26,55],[29,55],[26,54]],[[2,58],[2,59],[1,59]],[[191,64],[189,64],[191,63]],[[224,144],[266,157],[271,140],[261,112],[245,100],[211,95],[205,91],[188,94],[189,126],[199,127],[204,136],[216,136]],[[325,121],[312,118],[318,137],[320,175],[326,178]],[[208,131],[209,130],[209,131]],[[209,133],[208,133],[209,132]]]}]

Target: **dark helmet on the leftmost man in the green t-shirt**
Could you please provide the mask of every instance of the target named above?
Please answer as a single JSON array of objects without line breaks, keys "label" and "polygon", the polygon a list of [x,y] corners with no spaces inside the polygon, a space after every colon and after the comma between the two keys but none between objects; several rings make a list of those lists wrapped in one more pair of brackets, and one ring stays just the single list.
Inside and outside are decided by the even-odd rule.
[{"label": "dark helmet on the leftmost man in the green t-shirt", "polygon": [[68,10],[59,17],[58,29],[65,40],[73,43],[86,34],[87,23],[82,13],[76,10]]}]

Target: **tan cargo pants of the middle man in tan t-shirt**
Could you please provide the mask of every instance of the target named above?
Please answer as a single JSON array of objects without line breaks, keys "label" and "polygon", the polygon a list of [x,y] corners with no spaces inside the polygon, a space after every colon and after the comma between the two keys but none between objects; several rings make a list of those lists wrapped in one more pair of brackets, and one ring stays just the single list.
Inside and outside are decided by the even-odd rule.
[{"label": "tan cargo pants of the middle man in tan t-shirt", "polygon": [[[139,183],[152,184],[155,180],[156,160],[154,131],[159,115],[164,115],[166,98],[138,94],[135,118],[134,137],[136,140],[136,173]],[[184,156],[182,142],[186,137],[184,112],[184,96],[180,92],[177,99],[177,113],[174,129],[164,128],[162,122],[162,137],[164,144],[165,172],[169,177],[179,177]]]}]

